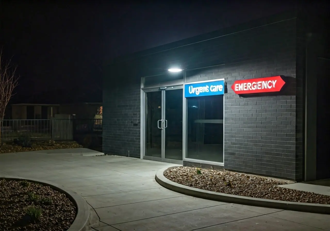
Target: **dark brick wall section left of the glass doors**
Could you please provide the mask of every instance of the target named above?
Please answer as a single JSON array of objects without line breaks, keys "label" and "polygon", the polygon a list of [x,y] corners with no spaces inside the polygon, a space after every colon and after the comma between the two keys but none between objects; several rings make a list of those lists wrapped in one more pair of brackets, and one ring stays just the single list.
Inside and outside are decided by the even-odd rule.
[{"label": "dark brick wall section left of the glass doors", "polygon": [[140,157],[140,82],[119,77],[104,80],[103,152]]}]

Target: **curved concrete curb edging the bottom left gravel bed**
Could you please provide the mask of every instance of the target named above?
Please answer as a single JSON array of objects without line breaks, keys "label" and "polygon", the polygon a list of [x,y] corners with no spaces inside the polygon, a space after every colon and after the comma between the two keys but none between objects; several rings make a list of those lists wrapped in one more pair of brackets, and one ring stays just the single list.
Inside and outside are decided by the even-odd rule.
[{"label": "curved concrete curb edging the bottom left gravel bed", "polygon": [[39,183],[45,186],[49,186],[50,188],[59,191],[60,193],[65,194],[70,201],[72,201],[77,208],[77,215],[75,220],[73,221],[72,225],[67,231],[87,231],[89,229],[89,208],[87,202],[76,192],[71,191],[69,189],[64,189],[62,186],[56,185],[54,183],[48,181],[42,181],[37,179],[31,178],[24,178],[24,177],[16,177],[16,176],[9,176],[9,175],[0,175],[0,179],[6,179],[8,181],[20,181],[26,180],[33,183]]}]

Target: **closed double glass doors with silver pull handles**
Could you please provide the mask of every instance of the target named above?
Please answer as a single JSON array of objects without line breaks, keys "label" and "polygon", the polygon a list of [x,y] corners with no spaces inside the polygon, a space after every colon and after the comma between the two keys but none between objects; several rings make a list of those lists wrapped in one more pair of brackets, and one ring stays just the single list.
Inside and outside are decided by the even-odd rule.
[{"label": "closed double glass doors with silver pull handles", "polygon": [[145,91],[145,159],[181,164],[182,93],[182,87]]}]

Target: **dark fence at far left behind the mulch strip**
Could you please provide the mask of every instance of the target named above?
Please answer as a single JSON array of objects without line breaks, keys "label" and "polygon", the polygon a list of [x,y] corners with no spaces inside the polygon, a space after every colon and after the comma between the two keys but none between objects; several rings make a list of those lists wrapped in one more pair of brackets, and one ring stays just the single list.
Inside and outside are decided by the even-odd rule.
[{"label": "dark fence at far left behind the mulch strip", "polygon": [[102,133],[102,119],[11,119],[1,124],[3,141],[25,134],[36,140],[74,140],[75,134],[93,132]]}]

